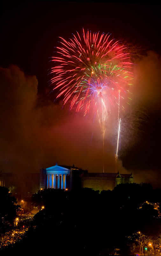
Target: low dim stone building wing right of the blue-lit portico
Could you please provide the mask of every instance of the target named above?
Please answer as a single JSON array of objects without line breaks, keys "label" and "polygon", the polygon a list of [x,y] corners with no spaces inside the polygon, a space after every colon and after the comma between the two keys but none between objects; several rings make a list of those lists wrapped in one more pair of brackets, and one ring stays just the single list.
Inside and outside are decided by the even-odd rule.
[{"label": "low dim stone building wing right of the blue-lit portico", "polygon": [[92,188],[94,190],[113,190],[121,183],[133,183],[134,176],[131,174],[117,173],[94,173],[86,172],[81,174],[81,187]]}]

